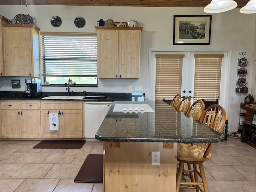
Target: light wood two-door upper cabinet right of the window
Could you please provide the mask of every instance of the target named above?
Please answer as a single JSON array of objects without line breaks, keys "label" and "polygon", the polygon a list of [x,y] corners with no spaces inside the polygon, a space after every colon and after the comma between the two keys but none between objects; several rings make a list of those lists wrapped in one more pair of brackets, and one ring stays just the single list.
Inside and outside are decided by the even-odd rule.
[{"label": "light wood two-door upper cabinet right of the window", "polygon": [[139,78],[142,27],[95,27],[97,77]]}]

